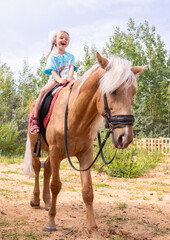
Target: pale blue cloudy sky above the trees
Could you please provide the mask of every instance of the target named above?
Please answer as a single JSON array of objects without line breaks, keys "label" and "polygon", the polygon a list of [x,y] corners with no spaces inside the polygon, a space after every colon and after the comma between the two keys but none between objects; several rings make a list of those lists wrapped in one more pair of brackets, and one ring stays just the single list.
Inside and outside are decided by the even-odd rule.
[{"label": "pale blue cloudy sky above the trees", "polygon": [[49,32],[61,29],[71,37],[67,51],[81,60],[84,44],[102,52],[114,28],[125,31],[130,18],[155,26],[170,50],[169,12],[169,0],[0,0],[0,63],[18,74],[27,59],[35,71],[50,51]]}]

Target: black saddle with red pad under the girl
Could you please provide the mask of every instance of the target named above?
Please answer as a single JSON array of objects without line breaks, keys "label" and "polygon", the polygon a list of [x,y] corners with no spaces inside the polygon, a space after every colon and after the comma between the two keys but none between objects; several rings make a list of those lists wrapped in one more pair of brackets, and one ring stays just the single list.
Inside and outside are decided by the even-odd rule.
[{"label": "black saddle with red pad under the girl", "polygon": [[57,96],[58,96],[60,90],[62,89],[62,87],[63,87],[62,84],[57,84],[52,90],[49,90],[48,92],[46,92],[45,95],[43,96],[40,106],[39,106],[38,124],[39,124],[39,128],[40,128],[40,133],[47,145],[48,145],[48,143],[46,140],[46,127],[48,125],[48,121],[51,116],[54,102],[57,99]]}]

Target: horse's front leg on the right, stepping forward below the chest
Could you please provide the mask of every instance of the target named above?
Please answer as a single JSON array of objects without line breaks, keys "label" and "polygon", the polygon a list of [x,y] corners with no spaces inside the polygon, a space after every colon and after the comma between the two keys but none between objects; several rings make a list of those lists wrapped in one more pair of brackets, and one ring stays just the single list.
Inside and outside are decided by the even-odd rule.
[{"label": "horse's front leg on the right, stepping forward below the chest", "polygon": [[[91,148],[85,153],[80,153],[77,156],[80,162],[80,169],[86,169],[90,166],[93,159],[93,149]],[[86,214],[87,214],[87,230],[93,237],[93,239],[103,239],[97,230],[97,225],[94,217],[94,209],[93,209],[93,187],[92,187],[92,179],[91,172],[82,171],[80,172],[81,183],[82,183],[82,196],[83,201],[86,205]]]}]

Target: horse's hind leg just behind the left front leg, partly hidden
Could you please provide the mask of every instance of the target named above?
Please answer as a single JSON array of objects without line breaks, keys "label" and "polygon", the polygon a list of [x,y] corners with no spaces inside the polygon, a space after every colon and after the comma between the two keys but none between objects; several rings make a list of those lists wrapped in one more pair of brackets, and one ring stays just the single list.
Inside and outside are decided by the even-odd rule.
[{"label": "horse's hind leg just behind the left front leg, partly hidden", "polygon": [[43,200],[45,203],[45,209],[48,211],[51,206],[50,201],[50,177],[51,177],[51,166],[49,157],[44,163],[44,188],[43,188]]}]

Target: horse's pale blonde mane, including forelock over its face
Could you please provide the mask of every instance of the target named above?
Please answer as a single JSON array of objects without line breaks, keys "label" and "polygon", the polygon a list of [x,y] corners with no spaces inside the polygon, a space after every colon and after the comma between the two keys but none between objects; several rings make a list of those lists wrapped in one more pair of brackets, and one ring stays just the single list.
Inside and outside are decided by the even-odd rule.
[{"label": "horse's pale blonde mane, including forelock over its face", "polygon": [[[77,89],[77,95],[80,88],[89,78],[89,76],[98,68],[98,64],[92,66],[84,75],[80,78],[80,83]],[[105,73],[100,79],[101,90],[103,93],[112,93],[118,89],[124,82],[125,88],[128,88],[130,84],[137,87],[136,78],[131,71],[132,63],[126,59],[112,56],[108,62]]]}]

